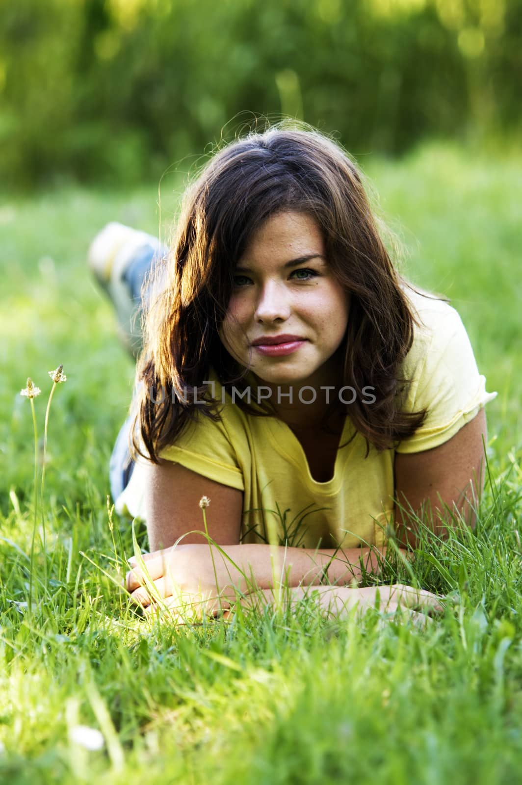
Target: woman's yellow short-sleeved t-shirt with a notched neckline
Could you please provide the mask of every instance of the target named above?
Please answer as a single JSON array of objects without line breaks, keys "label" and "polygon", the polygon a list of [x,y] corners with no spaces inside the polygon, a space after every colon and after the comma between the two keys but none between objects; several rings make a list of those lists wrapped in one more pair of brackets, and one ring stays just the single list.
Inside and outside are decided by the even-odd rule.
[{"label": "woman's yellow short-sleeved t-shirt with a notched neckline", "polygon": [[[408,290],[422,320],[401,373],[411,379],[406,411],[428,410],[424,425],[397,447],[400,453],[444,444],[497,395],[485,391],[473,349],[458,313],[444,301]],[[215,396],[221,399],[216,382]],[[354,433],[349,417],[340,444]],[[360,433],[338,450],[334,476],[317,482],[288,425],[248,414],[225,396],[221,421],[199,416],[162,457],[243,491],[242,542],[268,542],[274,532],[289,546],[323,548],[379,545],[392,524],[395,451],[366,455]],[[138,463],[117,509],[143,517]]]}]

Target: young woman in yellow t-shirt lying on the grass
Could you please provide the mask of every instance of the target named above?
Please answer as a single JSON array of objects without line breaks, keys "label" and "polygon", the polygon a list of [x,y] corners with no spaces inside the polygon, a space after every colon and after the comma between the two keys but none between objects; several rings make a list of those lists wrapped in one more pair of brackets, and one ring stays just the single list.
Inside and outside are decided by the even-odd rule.
[{"label": "young woman in yellow t-shirt lying on the grass", "polygon": [[[153,245],[119,225],[93,244],[120,304],[137,296]],[[146,520],[154,551],[154,591],[139,564],[128,575],[135,601],[270,598],[283,579],[290,597],[317,586],[324,608],[362,608],[377,590],[356,582],[379,570],[390,531],[409,547],[419,520],[439,536],[473,526],[496,393],[458,313],[396,272],[341,148],[277,128],[228,145],[161,255],[134,427],[112,461],[117,509]],[[202,497],[221,550],[197,533]],[[379,594],[391,609],[439,607],[407,586]]]}]

